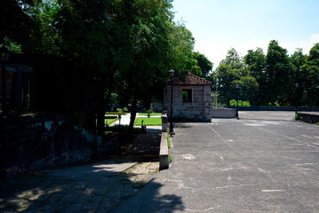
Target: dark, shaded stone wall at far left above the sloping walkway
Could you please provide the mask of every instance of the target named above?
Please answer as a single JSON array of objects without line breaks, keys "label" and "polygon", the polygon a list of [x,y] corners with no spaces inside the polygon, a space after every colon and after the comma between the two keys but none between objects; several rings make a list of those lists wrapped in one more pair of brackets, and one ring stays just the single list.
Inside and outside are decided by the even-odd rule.
[{"label": "dark, shaded stone wall at far left above the sloping walkway", "polygon": [[24,172],[89,160],[92,150],[98,151],[100,141],[101,138],[74,125],[69,114],[12,119],[2,141],[1,170]]}]

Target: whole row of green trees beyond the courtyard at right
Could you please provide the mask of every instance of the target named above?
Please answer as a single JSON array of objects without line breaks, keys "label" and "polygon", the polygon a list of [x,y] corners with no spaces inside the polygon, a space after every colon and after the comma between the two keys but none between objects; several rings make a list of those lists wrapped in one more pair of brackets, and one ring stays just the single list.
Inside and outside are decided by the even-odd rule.
[{"label": "whole row of green trees beyond the courtyard at right", "polygon": [[[243,60],[231,49],[212,74],[219,79],[219,100],[248,100],[251,106],[318,106],[319,43],[303,54],[302,49],[289,56],[275,40],[267,54],[261,48],[247,51]],[[240,96],[236,97],[240,88]]]}]

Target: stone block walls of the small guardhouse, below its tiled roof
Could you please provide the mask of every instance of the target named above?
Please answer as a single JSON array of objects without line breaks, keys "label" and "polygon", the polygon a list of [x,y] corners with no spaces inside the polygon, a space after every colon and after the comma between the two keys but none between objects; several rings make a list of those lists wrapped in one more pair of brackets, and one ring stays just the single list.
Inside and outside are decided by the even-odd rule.
[{"label": "stone block walls of the small guardhouse, below its tiled roof", "polygon": [[[183,103],[182,90],[192,91],[192,101]],[[171,86],[163,91],[163,108],[171,114]],[[173,85],[173,117],[187,118],[193,121],[211,121],[210,85]]]}]

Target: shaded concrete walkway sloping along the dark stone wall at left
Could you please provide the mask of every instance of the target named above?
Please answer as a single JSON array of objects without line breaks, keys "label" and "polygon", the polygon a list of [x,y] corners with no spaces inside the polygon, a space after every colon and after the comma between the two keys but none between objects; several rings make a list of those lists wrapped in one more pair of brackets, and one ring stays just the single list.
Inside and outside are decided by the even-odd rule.
[{"label": "shaded concrete walkway sloping along the dark stone wall at left", "polygon": [[136,163],[115,159],[23,175],[0,185],[0,211],[106,212],[135,193],[121,172]]}]

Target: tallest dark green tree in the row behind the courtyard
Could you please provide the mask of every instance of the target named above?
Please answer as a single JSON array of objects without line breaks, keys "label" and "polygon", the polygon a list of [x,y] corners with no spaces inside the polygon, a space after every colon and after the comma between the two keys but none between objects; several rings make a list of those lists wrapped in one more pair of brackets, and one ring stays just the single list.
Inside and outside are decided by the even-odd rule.
[{"label": "tallest dark green tree in the row behind the courtyard", "polygon": [[289,98],[294,89],[294,83],[291,81],[291,63],[287,50],[279,46],[277,41],[270,41],[266,61],[265,86],[269,93],[267,102],[274,105],[278,101],[283,106],[291,101]]}]

